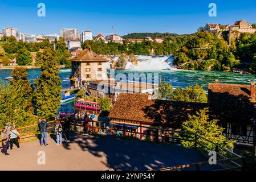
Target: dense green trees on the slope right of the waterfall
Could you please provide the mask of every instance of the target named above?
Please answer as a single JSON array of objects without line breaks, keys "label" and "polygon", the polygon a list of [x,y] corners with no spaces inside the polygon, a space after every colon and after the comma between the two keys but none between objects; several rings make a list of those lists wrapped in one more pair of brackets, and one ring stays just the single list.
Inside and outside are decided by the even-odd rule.
[{"label": "dense green trees on the slope right of the waterfall", "polygon": [[227,41],[219,38],[217,34],[199,31],[181,39],[181,42],[182,46],[176,46],[174,53],[174,64],[188,62],[181,69],[226,70],[240,64],[239,57],[235,57],[237,51],[239,52],[235,42],[229,47]]}]

